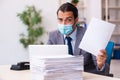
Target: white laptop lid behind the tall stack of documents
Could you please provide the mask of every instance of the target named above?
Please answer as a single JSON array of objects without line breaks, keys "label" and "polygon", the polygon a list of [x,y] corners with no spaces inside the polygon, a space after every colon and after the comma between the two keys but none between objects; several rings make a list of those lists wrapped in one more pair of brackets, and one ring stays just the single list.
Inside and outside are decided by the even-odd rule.
[{"label": "white laptop lid behind the tall stack of documents", "polygon": [[50,58],[53,56],[68,55],[67,45],[29,45],[30,56],[39,56],[41,58]]}]

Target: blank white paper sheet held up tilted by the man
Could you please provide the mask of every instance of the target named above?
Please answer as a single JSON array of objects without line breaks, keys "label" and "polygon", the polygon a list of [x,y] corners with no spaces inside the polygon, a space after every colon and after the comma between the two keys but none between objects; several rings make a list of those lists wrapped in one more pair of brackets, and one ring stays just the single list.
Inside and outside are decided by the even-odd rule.
[{"label": "blank white paper sheet held up tilted by the man", "polygon": [[92,18],[79,48],[97,56],[99,50],[106,48],[114,28],[112,23]]}]

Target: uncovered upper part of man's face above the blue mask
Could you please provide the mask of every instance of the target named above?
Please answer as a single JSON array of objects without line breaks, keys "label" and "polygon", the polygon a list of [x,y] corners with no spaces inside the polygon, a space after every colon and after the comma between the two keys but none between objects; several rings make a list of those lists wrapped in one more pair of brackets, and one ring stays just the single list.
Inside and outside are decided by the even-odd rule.
[{"label": "uncovered upper part of man's face above the blue mask", "polygon": [[58,11],[57,19],[59,24],[64,24],[64,25],[72,24],[73,30],[76,27],[74,25],[76,24],[77,20],[74,19],[73,12],[71,11],[68,11],[68,12]]}]

